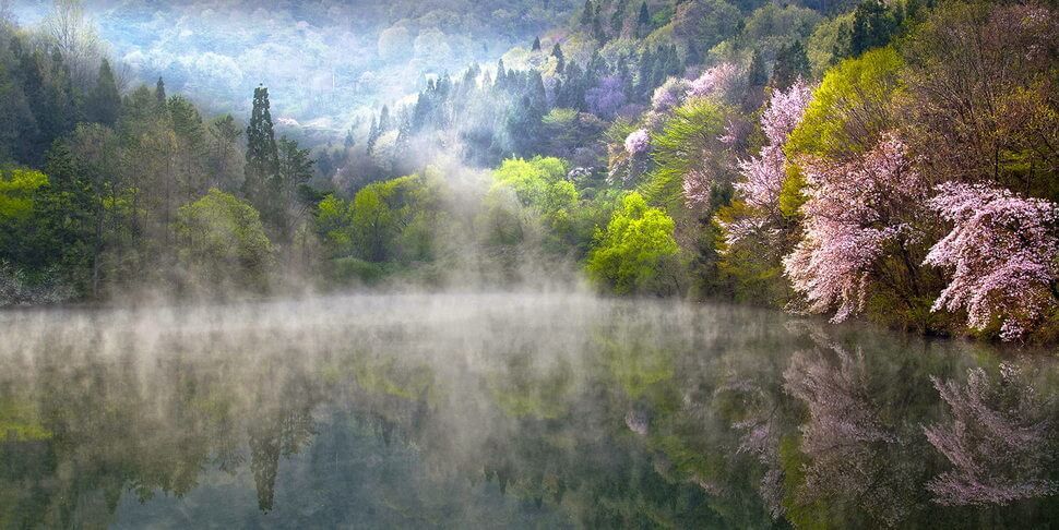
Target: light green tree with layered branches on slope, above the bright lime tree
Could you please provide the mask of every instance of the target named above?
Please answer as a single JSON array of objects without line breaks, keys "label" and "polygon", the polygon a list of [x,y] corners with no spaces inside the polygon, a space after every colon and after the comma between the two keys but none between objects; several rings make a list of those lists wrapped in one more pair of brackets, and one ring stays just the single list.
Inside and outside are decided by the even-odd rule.
[{"label": "light green tree with layered branches on slope, above the bright lime tree", "polygon": [[652,138],[655,169],[647,173],[639,192],[649,203],[675,212],[682,205],[683,178],[705,169],[703,154],[719,144],[725,110],[712,99],[694,98],[674,110],[662,132]]}]

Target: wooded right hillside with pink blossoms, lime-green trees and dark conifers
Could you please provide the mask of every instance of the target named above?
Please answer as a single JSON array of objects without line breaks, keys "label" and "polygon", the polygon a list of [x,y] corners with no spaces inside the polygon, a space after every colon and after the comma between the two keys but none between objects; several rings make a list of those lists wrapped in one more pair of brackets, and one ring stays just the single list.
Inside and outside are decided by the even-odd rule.
[{"label": "wooded right hillside with pink blossoms, lime-green trees and dark conifers", "polygon": [[357,159],[566,160],[549,182],[570,184],[560,209],[581,228],[551,249],[618,293],[1055,339],[1052,9],[622,4],[587,2],[555,41],[509,52],[517,69],[431,82],[373,119]]}]

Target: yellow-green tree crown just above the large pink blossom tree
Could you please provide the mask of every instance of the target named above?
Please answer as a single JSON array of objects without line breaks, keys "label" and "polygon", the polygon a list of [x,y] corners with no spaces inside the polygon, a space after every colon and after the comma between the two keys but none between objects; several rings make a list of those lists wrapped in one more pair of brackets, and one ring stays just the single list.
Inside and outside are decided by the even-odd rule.
[{"label": "yellow-green tree crown just above the large pink blossom tree", "polygon": [[829,70],[787,140],[787,156],[841,158],[873,146],[892,127],[892,101],[901,91],[903,67],[893,48],[881,48]]}]

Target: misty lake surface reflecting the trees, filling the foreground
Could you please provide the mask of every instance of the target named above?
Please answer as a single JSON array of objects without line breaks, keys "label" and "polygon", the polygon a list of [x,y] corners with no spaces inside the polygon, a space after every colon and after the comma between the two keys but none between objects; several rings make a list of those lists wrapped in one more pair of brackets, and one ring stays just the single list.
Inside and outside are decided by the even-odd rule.
[{"label": "misty lake surface reflecting the trees, filling the foreground", "polygon": [[1046,528],[1026,353],[580,294],[0,313],[0,527]]}]

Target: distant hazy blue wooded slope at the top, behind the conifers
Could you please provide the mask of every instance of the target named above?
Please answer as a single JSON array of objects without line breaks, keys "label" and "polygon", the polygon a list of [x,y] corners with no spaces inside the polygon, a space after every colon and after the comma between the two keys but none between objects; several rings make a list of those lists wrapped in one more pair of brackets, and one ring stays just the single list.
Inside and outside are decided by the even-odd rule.
[{"label": "distant hazy blue wooded slope at the top, behind the conifers", "polygon": [[[86,2],[136,82],[165,77],[209,109],[249,111],[272,88],[283,123],[345,129],[365,107],[400,99],[427,76],[491,62],[569,17],[576,2]],[[15,2],[24,25],[49,5]]]}]

